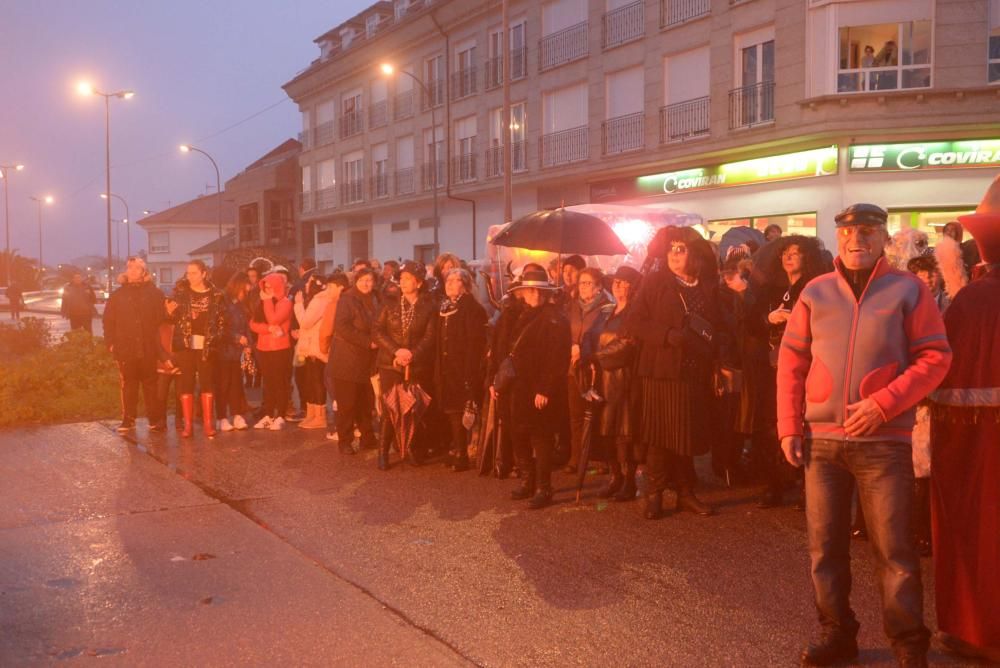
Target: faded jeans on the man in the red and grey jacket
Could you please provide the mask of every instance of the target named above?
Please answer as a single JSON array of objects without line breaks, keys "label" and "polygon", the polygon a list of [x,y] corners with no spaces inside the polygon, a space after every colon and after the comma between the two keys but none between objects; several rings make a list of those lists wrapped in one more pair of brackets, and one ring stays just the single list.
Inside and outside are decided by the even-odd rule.
[{"label": "faded jeans on the man in the red and grey jacket", "polygon": [[856,633],[851,609],[851,500],[868,523],[882,593],[882,625],[894,647],[926,651],[920,561],[911,532],[913,461],[905,443],[807,440],[806,524],[816,608],[823,626]]}]

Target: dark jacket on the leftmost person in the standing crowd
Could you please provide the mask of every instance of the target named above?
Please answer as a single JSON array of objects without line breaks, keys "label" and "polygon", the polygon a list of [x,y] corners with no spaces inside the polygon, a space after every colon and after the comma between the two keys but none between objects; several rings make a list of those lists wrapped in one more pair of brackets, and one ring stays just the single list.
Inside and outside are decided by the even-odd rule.
[{"label": "dark jacket on the leftmost person in the standing crowd", "polygon": [[160,324],[167,310],[163,293],[150,283],[125,283],[104,306],[104,342],[119,362],[160,357]]}]

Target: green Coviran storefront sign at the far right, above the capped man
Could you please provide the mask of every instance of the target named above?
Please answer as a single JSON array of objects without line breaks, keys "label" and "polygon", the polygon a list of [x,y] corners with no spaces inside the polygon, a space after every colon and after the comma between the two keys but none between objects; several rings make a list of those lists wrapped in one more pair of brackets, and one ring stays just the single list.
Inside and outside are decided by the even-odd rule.
[{"label": "green Coviran storefront sign at the far right, above the capped man", "polygon": [[852,172],[899,172],[913,169],[1000,167],[1000,139],[858,144],[849,149]]}]

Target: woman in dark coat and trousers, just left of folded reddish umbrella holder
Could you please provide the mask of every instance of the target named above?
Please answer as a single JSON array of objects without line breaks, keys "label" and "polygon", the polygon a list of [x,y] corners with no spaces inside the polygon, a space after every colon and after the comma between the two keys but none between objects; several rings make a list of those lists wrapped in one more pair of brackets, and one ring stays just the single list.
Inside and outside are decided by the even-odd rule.
[{"label": "woman in dark coat and trousers, just left of folded reddish umbrella holder", "polygon": [[375,272],[363,269],[354,276],[354,287],[345,290],[337,302],[327,377],[333,381],[337,401],[337,440],[340,451],[354,449],[354,426],[361,432],[361,447],[375,444],[372,424],[374,392],[371,387],[376,345],[372,338],[377,305]]}]

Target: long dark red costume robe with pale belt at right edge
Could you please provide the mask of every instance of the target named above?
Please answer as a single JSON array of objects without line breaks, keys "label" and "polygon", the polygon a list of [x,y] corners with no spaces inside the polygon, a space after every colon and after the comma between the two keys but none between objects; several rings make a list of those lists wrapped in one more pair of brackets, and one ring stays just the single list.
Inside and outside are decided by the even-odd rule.
[{"label": "long dark red costume robe with pale belt at right edge", "polygon": [[944,320],[954,358],[931,426],[938,626],[1000,650],[1000,266],[963,288]]}]

